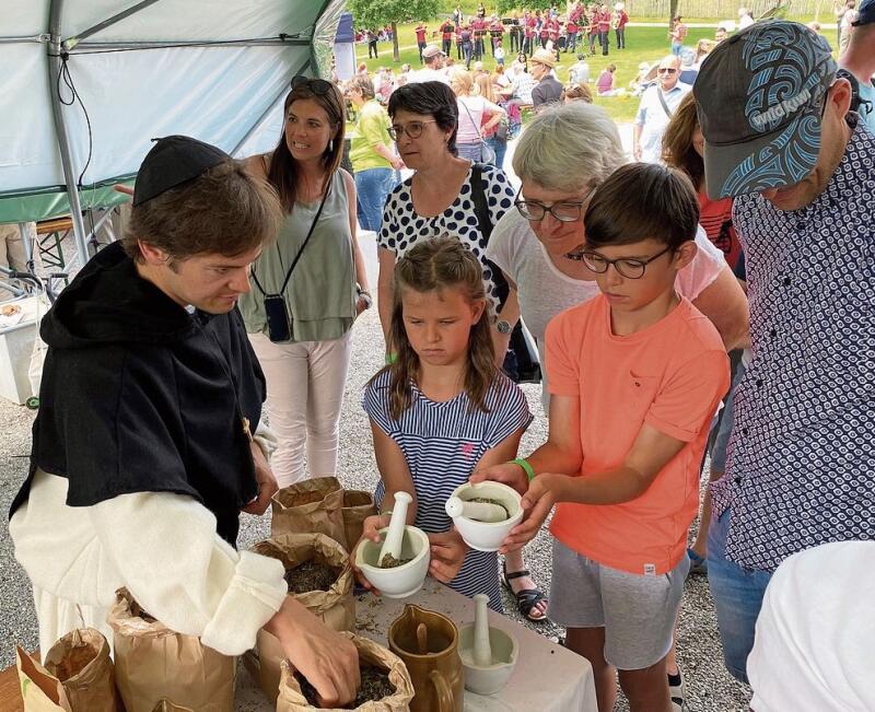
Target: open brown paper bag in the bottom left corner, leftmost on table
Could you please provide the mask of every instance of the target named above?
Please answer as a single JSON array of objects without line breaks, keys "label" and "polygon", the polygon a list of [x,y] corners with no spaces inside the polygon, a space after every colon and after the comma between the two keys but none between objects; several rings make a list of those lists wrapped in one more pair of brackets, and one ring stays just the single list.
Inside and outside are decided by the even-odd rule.
[{"label": "open brown paper bag in the bottom left corner, leftmost on table", "polygon": [[72,630],[46,654],[45,666],[18,651],[19,678],[26,712],[116,712],[109,643],[93,628]]}]

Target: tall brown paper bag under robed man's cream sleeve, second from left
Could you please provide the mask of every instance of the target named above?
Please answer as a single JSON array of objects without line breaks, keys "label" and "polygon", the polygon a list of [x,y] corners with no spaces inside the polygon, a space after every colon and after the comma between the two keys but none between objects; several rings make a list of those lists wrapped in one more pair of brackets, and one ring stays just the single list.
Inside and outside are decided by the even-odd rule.
[{"label": "tall brown paper bag under robed man's cream sleeve, second from left", "polygon": [[116,685],[127,712],[152,712],[162,699],[198,712],[233,711],[236,658],[196,635],[172,631],[124,588],[107,622],[115,633]]}]

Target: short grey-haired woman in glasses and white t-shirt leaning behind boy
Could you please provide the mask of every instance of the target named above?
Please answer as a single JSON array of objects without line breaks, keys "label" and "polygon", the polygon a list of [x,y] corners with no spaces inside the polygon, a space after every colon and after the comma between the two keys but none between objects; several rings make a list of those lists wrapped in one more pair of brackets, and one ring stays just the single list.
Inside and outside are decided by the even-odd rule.
[{"label": "short grey-haired woman in glasses and white t-shirt leaning behind boy", "polygon": [[[544,109],[516,144],[513,170],[522,182],[516,210],[509,210],[495,225],[486,254],[510,285],[501,316],[522,314],[538,340],[541,363],[547,323],[598,294],[595,272],[581,260],[586,242],[583,214],[596,187],[626,162],[617,126],[603,108],[584,102]],[[746,346],[747,297],[701,226],[696,245],[695,259],[678,275],[677,291],[711,319],[727,350]],[[667,669],[672,696],[679,698],[674,645]]]}]

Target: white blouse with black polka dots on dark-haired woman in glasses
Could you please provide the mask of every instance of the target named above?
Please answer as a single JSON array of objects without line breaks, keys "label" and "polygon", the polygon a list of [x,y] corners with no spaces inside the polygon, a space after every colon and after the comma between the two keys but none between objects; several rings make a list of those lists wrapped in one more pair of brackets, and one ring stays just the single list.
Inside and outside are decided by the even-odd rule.
[{"label": "white blouse with black polka dots on dark-haired woman in glasses", "polygon": [[[514,190],[508,176],[492,165],[482,166],[483,191],[489,206],[489,217],[494,225],[513,206]],[[380,231],[377,246],[401,257],[422,240],[451,236],[470,249],[483,266],[483,284],[493,308],[498,307],[493,268],[486,258],[487,238],[480,233],[471,197],[471,172],[459,190],[458,197],[441,213],[422,218],[413,209],[410,186],[412,176],[400,183],[386,199],[383,209],[383,229]]]}]

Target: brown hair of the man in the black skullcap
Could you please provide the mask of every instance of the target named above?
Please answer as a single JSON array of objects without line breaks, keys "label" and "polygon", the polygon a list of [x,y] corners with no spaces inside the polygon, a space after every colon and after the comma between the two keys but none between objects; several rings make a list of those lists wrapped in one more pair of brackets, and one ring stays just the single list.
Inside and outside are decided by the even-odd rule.
[{"label": "brown hair of the man in the black skullcap", "polygon": [[275,240],[281,221],[273,187],[241,161],[228,160],[133,206],[121,245],[137,261],[142,261],[139,241],[173,261],[208,254],[237,257]]}]

